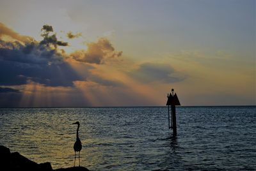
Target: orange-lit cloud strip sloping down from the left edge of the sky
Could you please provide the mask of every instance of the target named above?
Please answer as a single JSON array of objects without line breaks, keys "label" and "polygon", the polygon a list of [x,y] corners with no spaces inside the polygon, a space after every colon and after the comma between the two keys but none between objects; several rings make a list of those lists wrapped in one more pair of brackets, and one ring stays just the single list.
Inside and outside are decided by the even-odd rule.
[{"label": "orange-lit cloud strip sloping down from the left edge of the sky", "polygon": [[11,38],[13,38],[15,40],[22,41],[22,42],[33,41],[33,38],[31,38],[29,36],[20,35],[19,33],[16,33],[15,31],[6,27],[3,23],[0,22],[0,38],[3,35],[10,36]]}]

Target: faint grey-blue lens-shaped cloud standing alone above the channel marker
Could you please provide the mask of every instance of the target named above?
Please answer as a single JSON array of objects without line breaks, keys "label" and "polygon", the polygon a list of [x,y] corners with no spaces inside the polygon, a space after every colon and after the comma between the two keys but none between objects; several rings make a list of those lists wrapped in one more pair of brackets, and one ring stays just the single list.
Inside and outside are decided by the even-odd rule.
[{"label": "faint grey-blue lens-shaped cloud standing alone above the channel marker", "polygon": [[139,80],[140,82],[180,82],[186,78],[184,75],[175,71],[172,66],[168,64],[155,64],[155,63],[143,63],[140,66],[129,73],[132,78]]}]

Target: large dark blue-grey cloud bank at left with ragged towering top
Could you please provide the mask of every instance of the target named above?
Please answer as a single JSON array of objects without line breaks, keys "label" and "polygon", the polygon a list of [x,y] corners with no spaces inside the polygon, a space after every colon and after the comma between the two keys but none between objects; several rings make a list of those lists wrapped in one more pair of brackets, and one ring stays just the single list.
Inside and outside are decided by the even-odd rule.
[{"label": "large dark blue-grey cloud bank at left with ragged towering top", "polygon": [[[75,80],[84,80],[58,51],[62,42],[55,39],[56,34],[49,36],[52,27],[45,25],[42,30],[45,31],[42,40],[45,43],[0,40],[0,85],[22,85],[33,81],[49,86],[73,86]],[[17,33],[12,31],[12,34]]]}]

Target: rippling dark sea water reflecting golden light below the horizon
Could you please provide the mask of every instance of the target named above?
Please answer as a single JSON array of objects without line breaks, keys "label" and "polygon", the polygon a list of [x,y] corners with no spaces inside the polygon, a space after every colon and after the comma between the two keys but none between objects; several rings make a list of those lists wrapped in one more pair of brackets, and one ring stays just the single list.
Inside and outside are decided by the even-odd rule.
[{"label": "rippling dark sea water reflecting golden light below the horizon", "polygon": [[[256,107],[0,108],[0,144],[53,168],[90,170],[255,170]],[[77,163],[78,164],[78,163]]]}]

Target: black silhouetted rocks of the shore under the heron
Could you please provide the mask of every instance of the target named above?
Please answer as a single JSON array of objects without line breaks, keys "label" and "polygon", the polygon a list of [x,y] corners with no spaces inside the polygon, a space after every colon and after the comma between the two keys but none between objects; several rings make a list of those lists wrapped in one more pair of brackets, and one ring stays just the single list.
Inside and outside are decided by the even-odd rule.
[{"label": "black silhouetted rocks of the shore under the heron", "polygon": [[[51,163],[36,163],[28,158],[19,154],[19,152],[10,152],[8,147],[0,145],[0,170],[38,170],[38,171],[50,171],[53,170]],[[85,167],[69,167],[58,168],[56,171],[88,171]]]}]

